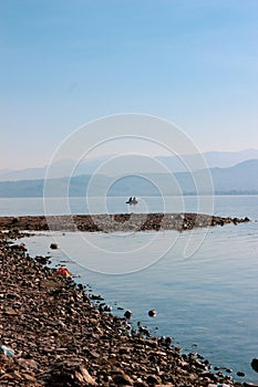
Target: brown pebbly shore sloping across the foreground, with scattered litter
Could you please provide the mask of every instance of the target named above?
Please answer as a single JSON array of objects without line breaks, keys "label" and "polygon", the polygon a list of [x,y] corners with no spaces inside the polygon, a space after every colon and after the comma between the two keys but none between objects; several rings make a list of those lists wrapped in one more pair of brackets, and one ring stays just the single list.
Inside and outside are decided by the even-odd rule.
[{"label": "brown pebbly shore sloping across the foreground, with scattered litter", "polygon": [[198,354],[180,355],[169,337],[103,312],[84,286],[35,262],[7,233],[0,279],[1,386],[241,386]]}]

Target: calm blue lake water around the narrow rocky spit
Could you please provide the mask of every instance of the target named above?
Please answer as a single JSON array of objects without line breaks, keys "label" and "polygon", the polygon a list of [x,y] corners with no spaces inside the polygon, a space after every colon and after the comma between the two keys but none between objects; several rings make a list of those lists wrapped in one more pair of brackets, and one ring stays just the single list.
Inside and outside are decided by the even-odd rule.
[{"label": "calm blue lake water around the narrow rocky spit", "polygon": [[[102,203],[94,200],[100,213]],[[62,213],[62,200],[52,201]],[[197,201],[166,198],[164,208],[164,199],[145,198],[142,211],[135,210],[196,211]],[[66,261],[78,281],[103,295],[113,313],[123,315],[117,306],[130,308],[135,326],[141,321],[154,334],[174,337],[183,351],[197,349],[215,366],[233,368],[235,378],[241,370],[242,380],[258,381],[249,365],[258,357],[258,196],[218,196],[214,209],[209,199],[202,206],[251,222],[182,233],[40,233],[25,243],[32,255],[50,253],[53,265]],[[71,208],[89,212],[83,198],[73,198]],[[121,198],[110,198],[105,209],[128,210]],[[0,213],[42,215],[43,207],[40,199],[0,199]],[[50,252],[53,240],[60,249]],[[157,310],[155,318],[148,317],[149,308]]]}]

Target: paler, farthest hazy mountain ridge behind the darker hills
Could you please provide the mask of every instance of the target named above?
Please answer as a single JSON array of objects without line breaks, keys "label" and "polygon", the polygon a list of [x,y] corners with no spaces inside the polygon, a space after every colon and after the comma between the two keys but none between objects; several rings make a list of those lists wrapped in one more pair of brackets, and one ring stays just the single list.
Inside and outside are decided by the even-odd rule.
[{"label": "paler, farthest hazy mountain ridge behind the darker hills", "polygon": [[[204,159],[206,160],[208,168],[229,168],[235,166],[236,164],[249,160],[249,159],[258,159],[258,150],[257,149],[246,149],[241,151],[208,151],[203,154]],[[75,170],[73,171],[73,176],[80,175],[92,175],[94,174],[101,165],[109,161],[112,155],[96,157],[92,159],[82,160],[76,165]],[[159,161],[161,165],[164,166],[164,172],[166,169],[172,172],[182,172],[187,171],[184,163],[177,156],[157,156],[155,157]],[[192,166],[195,159],[195,155],[187,155],[184,157],[184,160]],[[136,161],[135,161],[136,163]],[[66,170],[73,169],[74,166],[73,160],[61,160],[51,166],[51,177],[52,178],[61,178],[66,177]],[[143,166],[132,166],[133,169],[137,169],[143,174],[152,174],[153,164],[146,163]],[[22,170],[10,170],[3,169],[0,170],[0,181],[18,181],[18,180],[34,180],[34,179],[44,179],[47,172],[47,166],[42,168],[28,168]],[[144,168],[144,169],[141,169]],[[141,170],[140,170],[141,169]],[[109,172],[112,176],[112,171]],[[114,170],[115,175],[115,170]],[[113,175],[113,176],[114,176]]]}]

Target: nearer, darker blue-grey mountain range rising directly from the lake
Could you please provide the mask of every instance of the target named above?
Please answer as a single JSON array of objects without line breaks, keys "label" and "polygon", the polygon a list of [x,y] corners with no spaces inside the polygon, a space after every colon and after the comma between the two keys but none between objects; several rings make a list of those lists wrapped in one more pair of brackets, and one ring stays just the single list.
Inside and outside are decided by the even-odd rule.
[{"label": "nearer, darker blue-grey mountain range rising directly from the lake", "polygon": [[[250,159],[228,168],[210,168],[214,191],[203,180],[205,170],[174,174],[125,175],[116,178],[103,175],[79,175],[48,180],[47,196],[158,196],[158,195],[258,195],[258,159]],[[195,179],[203,181],[196,190]],[[44,179],[0,181],[0,197],[42,197]],[[107,189],[109,188],[109,189]]]}]

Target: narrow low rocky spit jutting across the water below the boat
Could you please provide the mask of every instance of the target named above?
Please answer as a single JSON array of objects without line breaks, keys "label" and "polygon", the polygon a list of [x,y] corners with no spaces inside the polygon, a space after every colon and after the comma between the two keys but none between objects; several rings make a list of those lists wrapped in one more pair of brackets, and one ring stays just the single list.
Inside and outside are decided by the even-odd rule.
[{"label": "narrow low rocky spit jutting across the water below the boat", "polygon": [[0,230],[55,231],[147,231],[192,230],[199,227],[238,224],[246,218],[215,217],[205,213],[117,213],[50,217],[0,217]]}]

